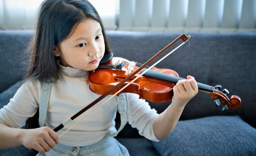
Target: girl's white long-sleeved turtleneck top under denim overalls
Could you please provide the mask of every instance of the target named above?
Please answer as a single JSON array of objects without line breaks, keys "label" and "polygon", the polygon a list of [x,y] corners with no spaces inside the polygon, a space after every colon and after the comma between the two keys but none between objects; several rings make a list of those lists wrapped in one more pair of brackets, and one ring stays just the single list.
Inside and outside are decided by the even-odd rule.
[{"label": "girl's white long-sleeved turtleneck top under denim overalls", "polygon": [[[59,80],[57,83],[53,83],[48,102],[45,125],[52,129],[101,96],[90,91],[86,79],[87,71],[61,66],[61,74],[65,81]],[[39,81],[27,81],[22,84],[10,102],[0,110],[0,123],[13,128],[24,126],[27,118],[33,117],[39,107],[41,88],[42,83]],[[151,109],[145,100],[139,99],[137,94],[127,93],[127,96],[128,123],[137,128],[140,135],[158,141],[152,126],[153,120],[157,116],[156,110]],[[104,99],[108,99],[108,97],[110,96]],[[100,141],[108,134],[115,133],[117,131],[115,128],[117,98],[119,97],[112,98],[67,131],[60,137],[60,143],[67,146],[86,146]],[[58,131],[58,134],[61,135],[99,104],[101,102],[65,125]]]}]

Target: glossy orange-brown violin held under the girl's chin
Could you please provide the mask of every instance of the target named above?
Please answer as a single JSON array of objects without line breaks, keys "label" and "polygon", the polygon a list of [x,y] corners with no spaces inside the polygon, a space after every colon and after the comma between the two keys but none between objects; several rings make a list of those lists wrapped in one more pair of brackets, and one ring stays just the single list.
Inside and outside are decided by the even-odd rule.
[{"label": "glossy orange-brown violin held under the girl's chin", "polygon": [[[119,84],[124,78],[128,77],[130,73],[137,70],[139,63],[128,61],[125,58],[113,57],[94,71],[89,73],[88,82],[90,90],[96,94],[103,95],[115,85]],[[136,78],[141,72],[145,71],[143,68],[136,73],[132,78],[129,78],[120,88],[124,87],[131,80]],[[123,92],[135,93],[139,98],[144,98],[155,103],[163,103],[172,99],[173,87],[179,81],[185,78],[179,77],[178,73],[171,69],[151,68],[144,73],[140,78],[128,85],[124,90],[119,92],[117,96]],[[229,91],[227,89],[221,90],[221,85],[210,86],[207,84],[198,83],[198,90],[210,94],[215,101],[216,106],[224,105],[222,111],[236,109],[241,105],[240,97],[232,95],[229,99]],[[112,91],[110,95],[119,91],[119,88]]]}]

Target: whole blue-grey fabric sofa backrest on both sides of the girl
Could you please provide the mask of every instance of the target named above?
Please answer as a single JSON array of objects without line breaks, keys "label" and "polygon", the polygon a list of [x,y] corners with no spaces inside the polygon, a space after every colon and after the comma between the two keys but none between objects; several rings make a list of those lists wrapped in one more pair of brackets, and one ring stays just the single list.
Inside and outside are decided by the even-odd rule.
[{"label": "whole blue-grey fabric sofa backrest on both sides of the girl", "polygon": [[[22,64],[24,52],[34,31],[0,30],[0,92],[24,78],[26,65]],[[182,45],[157,68],[175,70],[181,77],[195,77],[197,82],[229,90],[242,99],[235,110],[222,113],[214,100],[205,92],[199,92],[186,105],[182,120],[214,115],[240,115],[256,127],[256,33],[186,33],[189,42]],[[122,57],[141,64],[162,50],[180,33],[107,31],[114,57]],[[181,42],[179,42],[181,43]],[[174,49],[175,44],[171,49]],[[160,57],[162,57],[161,55]],[[159,113],[171,102],[151,103]]]}]

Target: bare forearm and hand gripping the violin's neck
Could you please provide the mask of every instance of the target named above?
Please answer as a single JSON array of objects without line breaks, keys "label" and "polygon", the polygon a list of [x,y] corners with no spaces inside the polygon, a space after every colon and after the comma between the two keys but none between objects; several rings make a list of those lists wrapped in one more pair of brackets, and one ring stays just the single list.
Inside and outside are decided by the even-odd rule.
[{"label": "bare forearm and hand gripping the violin's neck", "polygon": [[173,88],[172,104],[153,121],[155,136],[161,140],[168,136],[178,122],[185,105],[198,92],[196,81],[188,76],[187,80],[179,81]]}]

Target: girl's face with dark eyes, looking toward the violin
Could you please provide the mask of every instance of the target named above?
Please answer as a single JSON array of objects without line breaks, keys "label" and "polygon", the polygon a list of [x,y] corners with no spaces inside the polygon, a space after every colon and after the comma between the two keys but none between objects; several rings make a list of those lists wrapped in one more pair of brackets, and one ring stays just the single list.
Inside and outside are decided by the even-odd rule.
[{"label": "girl's face with dark eyes, looking toward the violin", "polygon": [[99,22],[87,19],[80,22],[73,34],[54,48],[61,65],[92,71],[96,69],[105,52],[104,38]]}]

